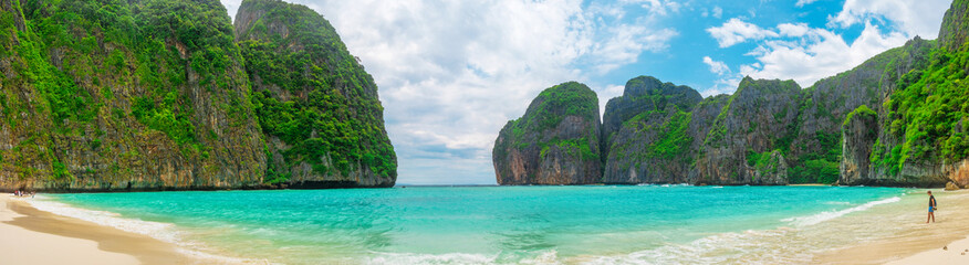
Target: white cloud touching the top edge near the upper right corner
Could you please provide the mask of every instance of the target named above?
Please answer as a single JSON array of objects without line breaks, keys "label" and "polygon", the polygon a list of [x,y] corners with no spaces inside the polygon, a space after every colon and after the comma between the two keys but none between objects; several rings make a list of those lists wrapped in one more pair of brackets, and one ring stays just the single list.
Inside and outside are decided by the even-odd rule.
[{"label": "white cloud touching the top edge near the upper right corner", "polygon": [[951,0],[847,0],[844,9],[829,17],[829,26],[847,28],[872,19],[898,24],[907,38],[935,39]]}]

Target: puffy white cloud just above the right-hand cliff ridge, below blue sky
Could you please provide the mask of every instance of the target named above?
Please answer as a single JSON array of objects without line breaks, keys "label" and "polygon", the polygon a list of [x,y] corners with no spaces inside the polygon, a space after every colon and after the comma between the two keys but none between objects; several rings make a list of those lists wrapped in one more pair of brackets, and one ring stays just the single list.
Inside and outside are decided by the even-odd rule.
[{"label": "puffy white cloud just above the right-hand cliff ridge, below blue sky", "polygon": [[831,31],[810,29],[795,40],[769,40],[749,55],[759,63],[741,66],[742,75],[756,78],[794,80],[811,86],[820,78],[851,70],[869,57],[907,41],[904,34],[883,34],[877,25],[865,24],[862,34],[851,44]]}]

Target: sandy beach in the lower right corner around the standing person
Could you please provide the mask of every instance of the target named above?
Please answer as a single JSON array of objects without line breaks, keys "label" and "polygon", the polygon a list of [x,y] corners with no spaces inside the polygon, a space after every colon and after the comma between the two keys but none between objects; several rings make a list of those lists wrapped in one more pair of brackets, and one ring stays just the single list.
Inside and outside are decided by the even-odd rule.
[{"label": "sandy beach in the lower right corner around the standing person", "polygon": [[[819,255],[819,264],[969,264],[969,190],[932,190],[939,202],[936,222],[926,224],[926,210],[913,212],[903,232],[875,242]],[[928,195],[917,201],[928,208]],[[945,247],[945,250],[944,250]],[[965,253],[965,255],[962,254]]]}]

